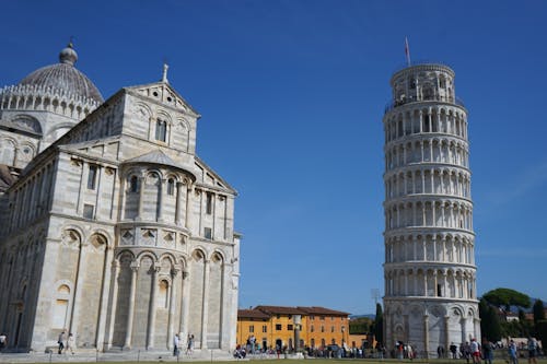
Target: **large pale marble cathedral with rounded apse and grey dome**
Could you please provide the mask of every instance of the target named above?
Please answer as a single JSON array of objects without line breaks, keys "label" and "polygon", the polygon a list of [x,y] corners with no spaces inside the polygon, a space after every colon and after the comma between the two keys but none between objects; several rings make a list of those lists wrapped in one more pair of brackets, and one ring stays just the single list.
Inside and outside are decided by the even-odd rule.
[{"label": "large pale marble cathedral with rounded apse and grey dome", "polygon": [[235,347],[237,192],[196,155],[162,80],[104,101],[59,62],[0,89],[0,331],[8,350]]}]

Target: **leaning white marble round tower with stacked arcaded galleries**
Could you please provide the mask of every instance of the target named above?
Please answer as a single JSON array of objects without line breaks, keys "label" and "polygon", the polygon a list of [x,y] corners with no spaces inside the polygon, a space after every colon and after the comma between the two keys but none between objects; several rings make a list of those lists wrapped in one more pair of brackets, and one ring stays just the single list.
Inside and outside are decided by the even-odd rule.
[{"label": "leaning white marble round tower with stacked arcaded galleries", "polygon": [[420,356],[480,340],[467,110],[454,71],[418,64],[396,72],[385,109],[387,350]]}]

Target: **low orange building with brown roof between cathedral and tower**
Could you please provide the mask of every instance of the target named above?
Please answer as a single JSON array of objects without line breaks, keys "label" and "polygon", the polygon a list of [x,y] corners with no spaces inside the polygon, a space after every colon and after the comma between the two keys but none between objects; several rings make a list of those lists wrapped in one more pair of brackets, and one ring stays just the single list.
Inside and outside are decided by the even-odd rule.
[{"label": "low orange building with brown roof between cathedral and tower", "polygon": [[237,344],[254,336],[259,348],[322,348],[348,342],[349,314],[324,307],[256,306],[237,312]]}]

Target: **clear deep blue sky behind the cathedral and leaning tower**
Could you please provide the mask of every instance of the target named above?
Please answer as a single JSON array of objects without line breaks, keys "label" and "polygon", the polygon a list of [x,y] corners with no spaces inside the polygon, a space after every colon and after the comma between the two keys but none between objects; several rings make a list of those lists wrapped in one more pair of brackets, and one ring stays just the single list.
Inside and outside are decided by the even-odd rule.
[{"label": "clear deep blue sky behind the cathedral and leaning tower", "polygon": [[240,307],[374,312],[383,293],[389,78],[450,64],[468,109],[478,291],[547,298],[547,2],[7,1],[0,84],[57,61],[109,97],[156,81],[202,115],[198,154],[234,186]]}]

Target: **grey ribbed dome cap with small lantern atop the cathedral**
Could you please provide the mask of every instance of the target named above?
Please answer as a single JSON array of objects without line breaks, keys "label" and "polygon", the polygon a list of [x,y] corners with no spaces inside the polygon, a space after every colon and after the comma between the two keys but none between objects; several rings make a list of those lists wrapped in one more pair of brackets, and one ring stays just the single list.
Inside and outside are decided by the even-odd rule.
[{"label": "grey ribbed dome cap with small lantern atop the cathedral", "polygon": [[77,60],[78,54],[73,49],[72,43],[70,43],[59,54],[59,63],[37,69],[25,77],[19,84],[44,89],[51,87],[53,91],[61,91],[68,95],[90,98],[102,104],[104,99],[97,87],[85,74],[75,69],[74,63]]}]

